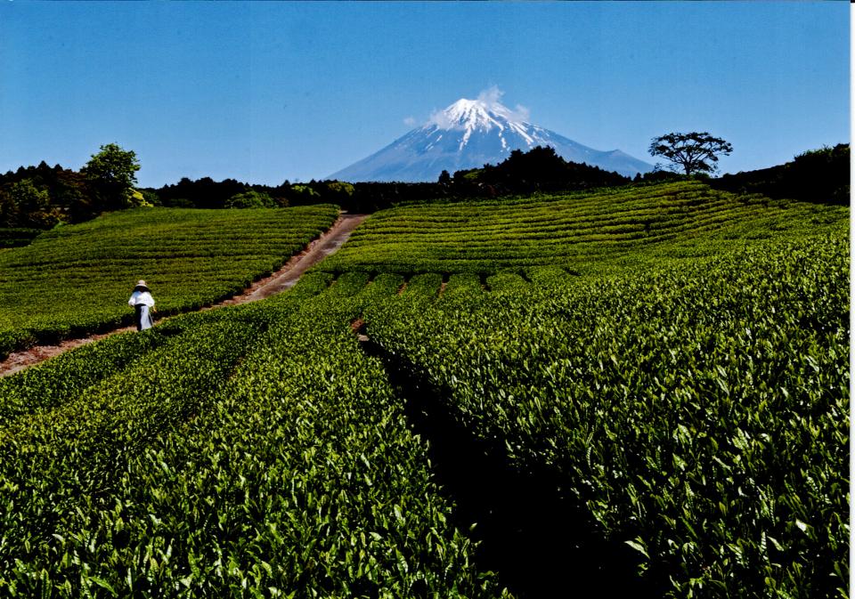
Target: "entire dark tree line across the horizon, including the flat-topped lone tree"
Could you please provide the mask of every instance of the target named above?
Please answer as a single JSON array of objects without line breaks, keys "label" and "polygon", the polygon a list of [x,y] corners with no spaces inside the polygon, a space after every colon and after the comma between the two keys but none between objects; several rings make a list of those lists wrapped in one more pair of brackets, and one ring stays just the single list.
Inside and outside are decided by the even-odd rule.
[{"label": "entire dark tree line across the horizon, including the flat-topped lone tree", "polygon": [[[139,161],[134,151],[103,145],[79,171],[60,165],[21,166],[0,174],[0,247],[19,245],[58,223],[80,223],[102,212],[134,206],[253,208],[337,204],[354,213],[432,199],[495,198],[561,193],[631,183],[662,182],[702,176],[717,189],[761,193],[773,198],[849,203],[849,145],[810,150],[786,165],[710,178],[729,142],[707,133],[665,134],[650,144],[653,156],[666,158],[669,170],[634,179],[598,166],[575,163],[550,147],[513,150],[497,165],[443,171],[436,182],[310,181],[257,185],[210,177],[155,188],[136,188]],[[680,173],[682,172],[682,173]],[[10,232],[12,231],[12,232]],[[17,232],[14,232],[17,231]],[[4,240],[5,239],[5,240]]]}]

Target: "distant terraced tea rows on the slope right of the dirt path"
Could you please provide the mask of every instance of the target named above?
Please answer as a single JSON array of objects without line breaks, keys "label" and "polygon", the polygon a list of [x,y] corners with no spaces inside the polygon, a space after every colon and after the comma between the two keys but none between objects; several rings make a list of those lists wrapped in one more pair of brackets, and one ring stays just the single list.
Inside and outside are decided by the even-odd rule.
[{"label": "distant terraced tea rows on the slope right of the dirt path", "polygon": [[578,273],[715,255],[780,231],[845,220],[830,206],[737,196],[700,182],[560,197],[432,203],[381,211],[354,232],[325,271]]}]

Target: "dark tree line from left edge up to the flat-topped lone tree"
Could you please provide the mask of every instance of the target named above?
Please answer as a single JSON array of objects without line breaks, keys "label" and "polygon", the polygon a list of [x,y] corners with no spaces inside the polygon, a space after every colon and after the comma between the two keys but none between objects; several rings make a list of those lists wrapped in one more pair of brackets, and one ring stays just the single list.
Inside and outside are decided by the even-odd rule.
[{"label": "dark tree line from left edge up to the flat-topped lone tree", "polygon": [[[159,189],[136,189],[139,169],[134,151],[108,143],[80,171],[42,161],[0,174],[0,228],[38,231],[134,206],[252,208],[330,203],[351,212],[373,212],[418,200],[556,193],[631,182],[598,166],[568,162],[554,149],[541,146],[527,152],[513,150],[498,165],[460,170],[453,176],[444,171],[436,182],[424,183],[313,180],[269,186],[184,177]],[[635,182],[665,178],[670,175],[655,172],[639,175]]]}]

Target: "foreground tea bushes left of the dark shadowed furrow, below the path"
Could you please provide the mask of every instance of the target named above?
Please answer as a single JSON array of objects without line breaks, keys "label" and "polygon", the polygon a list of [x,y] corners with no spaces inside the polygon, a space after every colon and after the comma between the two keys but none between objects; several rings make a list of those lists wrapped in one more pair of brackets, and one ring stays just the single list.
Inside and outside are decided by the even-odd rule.
[{"label": "foreground tea bushes left of the dark shadowed furrow, below the path", "polygon": [[507,595],[349,327],[402,282],[354,296],[366,280],[318,297],[330,276],[309,276],[0,381],[0,594]]}]

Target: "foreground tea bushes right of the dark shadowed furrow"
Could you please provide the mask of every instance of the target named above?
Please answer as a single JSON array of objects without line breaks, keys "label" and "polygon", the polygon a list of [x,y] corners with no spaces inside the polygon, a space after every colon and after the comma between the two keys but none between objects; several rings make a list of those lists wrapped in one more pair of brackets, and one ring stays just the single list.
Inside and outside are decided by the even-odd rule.
[{"label": "foreground tea bushes right of the dark shadowed furrow", "polygon": [[846,596],[849,244],[779,241],[621,278],[438,275],[371,339],[542,473],[670,596]]}]

